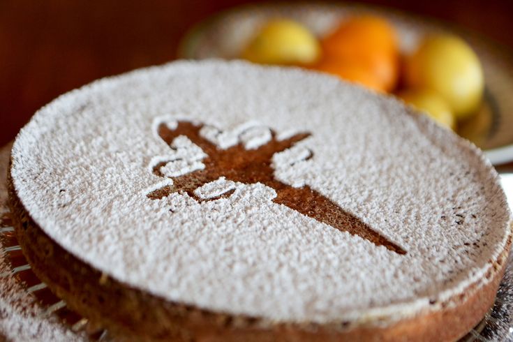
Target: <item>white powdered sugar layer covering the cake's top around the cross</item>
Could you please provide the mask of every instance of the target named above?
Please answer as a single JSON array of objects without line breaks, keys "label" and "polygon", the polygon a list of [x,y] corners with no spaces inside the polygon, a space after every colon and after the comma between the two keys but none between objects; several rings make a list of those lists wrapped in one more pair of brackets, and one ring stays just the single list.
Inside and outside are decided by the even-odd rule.
[{"label": "white powdered sugar layer covering the cake's top around the cross", "polygon": [[[220,179],[198,194],[233,195],[151,200],[172,185],[152,168],[179,147],[198,152],[156,134],[183,120],[205,124],[220,148],[265,143],[262,128],[310,132],[274,158],[276,179],[307,184],[406,255],[277,205],[262,184]],[[300,147],[313,158],[290,163]],[[164,171],[201,168],[200,156]],[[436,310],[485,286],[510,238],[498,175],[469,142],[393,98],[241,61],[181,61],[65,94],[17,136],[11,176],[34,222],[95,269],[172,302],[275,322],[386,325]]]}]

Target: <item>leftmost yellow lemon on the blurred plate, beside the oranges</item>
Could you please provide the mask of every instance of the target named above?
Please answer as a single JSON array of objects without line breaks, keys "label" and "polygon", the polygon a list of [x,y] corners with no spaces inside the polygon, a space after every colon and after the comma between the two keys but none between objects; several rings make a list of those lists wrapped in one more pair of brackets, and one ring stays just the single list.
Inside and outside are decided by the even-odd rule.
[{"label": "leftmost yellow lemon on the blurred plate, beside the oranges", "polygon": [[302,24],[272,20],[251,40],[242,57],[260,64],[312,64],[320,57],[320,44]]}]

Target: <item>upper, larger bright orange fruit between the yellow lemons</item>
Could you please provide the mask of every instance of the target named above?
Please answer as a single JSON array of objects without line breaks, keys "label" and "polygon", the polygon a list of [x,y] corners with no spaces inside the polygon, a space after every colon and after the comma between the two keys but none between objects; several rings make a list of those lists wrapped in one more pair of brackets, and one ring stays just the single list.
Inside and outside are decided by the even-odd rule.
[{"label": "upper, larger bright orange fruit between the yellow lemons", "polygon": [[367,68],[391,91],[399,75],[399,51],[396,32],[381,17],[352,17],[322,40],[325,59],[332,63]]}]

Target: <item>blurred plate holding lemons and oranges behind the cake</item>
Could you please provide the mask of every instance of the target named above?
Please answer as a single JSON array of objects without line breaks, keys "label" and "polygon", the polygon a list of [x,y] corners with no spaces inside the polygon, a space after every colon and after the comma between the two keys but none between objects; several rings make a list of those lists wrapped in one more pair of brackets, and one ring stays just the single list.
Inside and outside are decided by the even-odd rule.
[{"label": "blurred plate holding lemons and oranges behind the cake", "polygon": [[513,161],[513,63],[479,34],[347,3],[246,5],[201,22],[179,57],[246,59],[327,73],[401,98],[484,149]]}]

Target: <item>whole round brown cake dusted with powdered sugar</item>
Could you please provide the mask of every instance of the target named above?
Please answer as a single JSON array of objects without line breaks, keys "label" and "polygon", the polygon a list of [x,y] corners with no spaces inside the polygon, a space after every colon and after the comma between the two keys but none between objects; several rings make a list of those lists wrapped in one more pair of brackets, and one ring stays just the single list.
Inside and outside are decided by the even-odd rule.
[{"label": "whole round brown cake dusted with powdered sugar", "polygon": [[472,144],[392,97],[241,61],[57,98],[8,183],[34,272],[131,341],[458,339],[511,242]]}]

